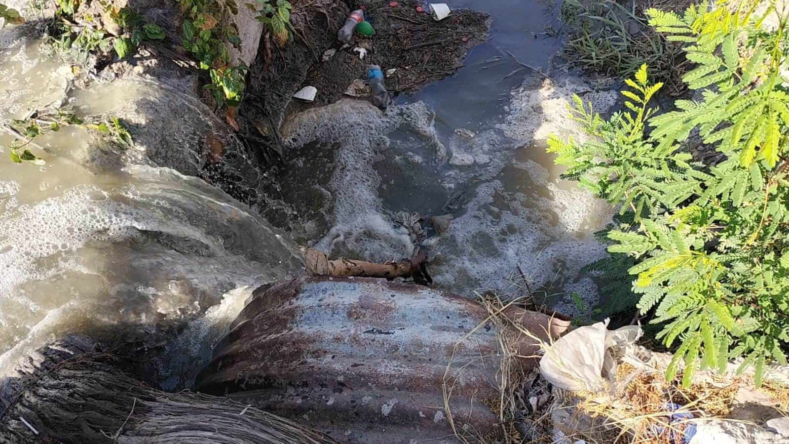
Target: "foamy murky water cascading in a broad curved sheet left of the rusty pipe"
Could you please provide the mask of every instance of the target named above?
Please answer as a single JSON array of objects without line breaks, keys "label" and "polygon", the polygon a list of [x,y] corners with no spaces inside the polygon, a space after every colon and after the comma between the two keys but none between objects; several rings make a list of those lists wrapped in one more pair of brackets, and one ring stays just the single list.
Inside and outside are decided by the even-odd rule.
[{"label": "foamy murky water cascading in a broad curved sheet left of the rusty pipe", "polygon": [[221,190],[166,168],[126,172],[122,185],[73,186],[0,215],[0,374],[85,325],[150,325],[208,308],[185,337],[200,341],[243,306],[231,292],[209,308],[222,293],[294,270],[286,239]]}]

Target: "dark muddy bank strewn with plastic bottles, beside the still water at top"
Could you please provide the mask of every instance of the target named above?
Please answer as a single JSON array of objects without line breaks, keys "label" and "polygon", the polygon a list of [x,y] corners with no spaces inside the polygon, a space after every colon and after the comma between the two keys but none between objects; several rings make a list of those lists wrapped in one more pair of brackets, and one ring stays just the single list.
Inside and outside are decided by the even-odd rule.
[{"label": "dark muddy bank strewn with plastic bottles, beside the still water at top", "polygon": [[[261,40],[239,108],[241,132],[279,151],[279,127],[289,115],[339,100],[355,79],[365,78],[368,64],[391,73],[386,85],[394,93],[413,92],[452,75],[462,66],[466,52],[488,35],[490,17],[458,10],[435,21],[430,14],[417,12],[417,5],[390,6],[385,0],[295,3],[291,16],[295,32],[286,47],[280,50],[269,36]],[[337,31],[351,10],[361,7],[375,35],[357,36],[350,47],[341,48]],[[355,47],[367,51],[364,59],[353,51]],[[294,100],[294,92],[307,85],[318,90],[315,102]]]}]

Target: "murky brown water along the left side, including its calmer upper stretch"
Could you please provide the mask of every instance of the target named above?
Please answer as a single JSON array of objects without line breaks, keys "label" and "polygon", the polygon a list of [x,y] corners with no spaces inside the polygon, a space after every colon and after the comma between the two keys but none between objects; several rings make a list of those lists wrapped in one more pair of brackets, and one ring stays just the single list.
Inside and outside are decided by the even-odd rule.
[{"label": "murky brown water along the left side, including its calmer upper stretch", "polygon": [[[16,42],[0,51],[0,119],[68,105],[80,115],[156,94],[154,86],[69,90],[70,67]],[[0,374],[65,331],[192,319],[214,308],[172,353],[188,363],[208,327],[232,320],[249,292],[297,268],[292,245],[215,187],[168,168],[91,167],[95,134],[37,137],[43,166],[14,164],[0,135]],[[227,310],[226,310],[227,309]],[[222,314],[225,318],[222,318]],[[216,336],[216,335],[214,335]],[[174,345],[174,347],[178,347]],[[198,366],[199,367],[199,366]],[[163,371],[165,374],[167,371]]]}]

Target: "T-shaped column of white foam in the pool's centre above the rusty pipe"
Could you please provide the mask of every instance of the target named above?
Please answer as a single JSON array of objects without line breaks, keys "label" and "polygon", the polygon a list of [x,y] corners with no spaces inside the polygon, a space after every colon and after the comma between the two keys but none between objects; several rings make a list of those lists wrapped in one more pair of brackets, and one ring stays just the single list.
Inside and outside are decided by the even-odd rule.
[{"label": "T-shaped column of white foam in the pool's centre above the rusty pipe", "polygon": [[335,196],[332,228],[316,248],[329,254],[353,254],[372,261],[408,257],[413,246],[409,236],[394,229],[383,216],[378,197],[380,177],[373,164],[389,149],[387,137],[406,127],[424,136],[426,143],[440,146],[432,130],[432,116],[424,103],[391,107],[381,113],[362,100],[340,100],[327,107],[297,115],[282,129],[290,149],[312,141],[338,143],[335,171],[329,186]]}]

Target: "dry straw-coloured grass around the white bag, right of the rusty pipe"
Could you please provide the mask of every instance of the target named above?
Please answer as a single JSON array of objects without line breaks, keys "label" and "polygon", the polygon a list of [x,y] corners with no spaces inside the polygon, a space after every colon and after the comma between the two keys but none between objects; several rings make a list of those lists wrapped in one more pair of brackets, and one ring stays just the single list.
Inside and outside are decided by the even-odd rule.
[{"label": "dry straw-coloured grass around the white bag, right of the rusty pipe", "polygon": [[[539,343],[543,351],[552,345],[541,341],[535,332],[523,329],[505,314],[508,307],[524,301],[528,301],[528,297],[510,303],[503,303],[495,295],[481,298],[481,304],[488,310],[488,318],[467,336],[488,322],[496,325],[499,331],[501,363],[496,375],[499,398],[483,400],[483,404],[499,416],[501,430],[488,436],[455,430],[461,442],[555,444],[563,442],[563,439],[570,442],[585,439],[589,443],[668,444],[672,437],[676,442],[689,423],[688,420],[669,423],[672,414],[692,413],[694,421],[725,418],[731,412],[739,388],[746,383],[739,378],[727,382],[699,378],[690,388],[682,389],[682,374],[667,382],[663,369],[621,363],[615,382],[605,392],[568,392],[551,388],[536,368],[523,369],[518,365],[517,358],[522,356],[514,351],[512,344],[516,340],[529,337]],[[513,331],[517,333],[513,334]],[[454,429],[449,408],[452,381],[451,366],[447,366],[444,407]],[[768,382],[765,383],[765,392],[775,398],[780,408],[789,410],[789,389]],[[682,407],[670,412],[667,403]],[[557,436],[557,429],[564,435]],[[657,431],[661,431],[660,434]]]}]

